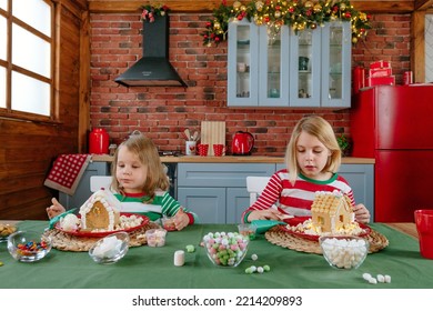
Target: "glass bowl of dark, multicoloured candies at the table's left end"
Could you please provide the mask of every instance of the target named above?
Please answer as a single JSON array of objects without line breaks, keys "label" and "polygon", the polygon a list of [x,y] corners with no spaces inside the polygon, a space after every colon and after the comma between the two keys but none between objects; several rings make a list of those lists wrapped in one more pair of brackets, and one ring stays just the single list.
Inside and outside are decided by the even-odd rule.
[{"label": "glass bowl of dark, multicoloured candies at the table's left end", "polygon": [[37,231],[17,231],[8,237],[8,251],[21,262],[36,262],[51,251],[51,239]]}]

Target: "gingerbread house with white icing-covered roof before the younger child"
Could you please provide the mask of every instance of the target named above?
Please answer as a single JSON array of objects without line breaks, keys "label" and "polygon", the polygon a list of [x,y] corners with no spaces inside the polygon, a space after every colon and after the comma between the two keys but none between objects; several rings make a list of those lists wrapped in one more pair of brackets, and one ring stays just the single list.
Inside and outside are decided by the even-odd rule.
[{"label": "gingerbread house with white icing-covered roof before the younger child", "polygon": [[113,231],[120,223],[120,202],[105,190],[94,192],[80,208],[81,230]]}]

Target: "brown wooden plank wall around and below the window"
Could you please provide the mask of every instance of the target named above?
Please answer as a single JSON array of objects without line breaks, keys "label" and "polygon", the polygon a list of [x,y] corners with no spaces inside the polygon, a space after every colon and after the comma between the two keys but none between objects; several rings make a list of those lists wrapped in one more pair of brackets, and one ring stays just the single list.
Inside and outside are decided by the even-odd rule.
[{"label": "brown wooden plank wall around and below the window", "polygon": [[81,18],[84,0],[56,2],[53,122],[0,118],[0,219],[47,219],[58,192],[43,185],[53,160],[78,153]]}]

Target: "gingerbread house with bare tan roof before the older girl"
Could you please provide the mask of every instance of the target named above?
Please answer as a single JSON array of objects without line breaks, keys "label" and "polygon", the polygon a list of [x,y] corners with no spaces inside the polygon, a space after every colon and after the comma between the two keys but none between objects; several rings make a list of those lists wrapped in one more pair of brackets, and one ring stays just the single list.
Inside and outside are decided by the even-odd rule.
[{"label": "gingerbread house with bare tan roof before the older girl", "polygon": [[311,205],[312,222],[322,232],[336,233],[354,222],[352,203],[346,194],[340,191],[318,191]]}]

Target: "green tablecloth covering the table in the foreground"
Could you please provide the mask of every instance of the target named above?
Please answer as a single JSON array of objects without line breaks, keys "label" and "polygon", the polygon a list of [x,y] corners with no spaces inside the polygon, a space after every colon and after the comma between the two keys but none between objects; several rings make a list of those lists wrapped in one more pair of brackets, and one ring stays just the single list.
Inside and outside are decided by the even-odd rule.
[{"label": "green tablecloth covering the table in the foreground", "polygon": [[[24,221],[19,229],[42,231],[43,221]],[[238,268],[214,267],[199,247],[208,232],[235,231],[234,224],[195,224],[183,231],[169,232],[163,248],[147,245],[131,248],[118,263],[94,263],[87,252],[64,252],[53,249],[47,258],[36,263],[14,261],[7,244],[0,243],[0,288],[60,288],[60,289],[432,289],[433,260],[420,255],[417,240],[384,224],[371,224],[390,240],[390,245],[369,254],[358,270],[331,268],[322,255],[298,252],[270,243],[263,234],[250,243],[245,260]],[[195,252],[185,252],[185,265],[174,267],[174,251],[194,244]],[[251,254],[259,260],[252,261]],[[250,265],[271,267],[263,274],[246,274]],[[370,284],[362,274],[389,274],[391,283]]]}]

